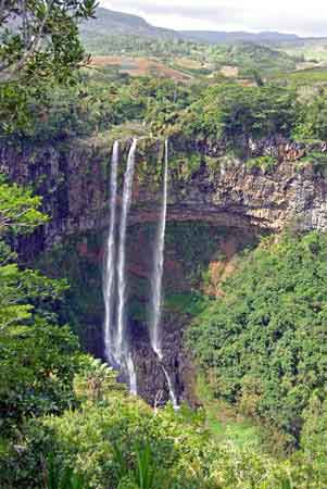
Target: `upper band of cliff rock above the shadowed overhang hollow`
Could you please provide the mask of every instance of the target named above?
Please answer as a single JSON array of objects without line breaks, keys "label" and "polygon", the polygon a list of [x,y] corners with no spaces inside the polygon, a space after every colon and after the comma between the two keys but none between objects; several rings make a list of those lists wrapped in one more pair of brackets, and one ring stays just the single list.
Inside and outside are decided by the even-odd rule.
[{"label": "upper band of cliff rock above the shadowed overhang hollow", "polygon": [[[158,218],[161,151],[156,140],[140,141],[134,224]],[[316,162],[316,155],[326,152],[325,145],[305,147],[276,138],[247,141],[247,151],[253,164],[226,153],[223,143],[173,140],[167,218],[277,231],[297,221],[302,229],[327,229],[327,181]],[[189,165],[192,154],[198,160]],[[260,167],[259,156],[274,159],[273,167]],[[0,148],[0,171],[18,183],[34,181],[45,197],[52,220],[39,238],[42,248],[66,235],[108,227],[110,159],[105,139],[37,150]],[[124,167],[122,160],[121,181]]]}]

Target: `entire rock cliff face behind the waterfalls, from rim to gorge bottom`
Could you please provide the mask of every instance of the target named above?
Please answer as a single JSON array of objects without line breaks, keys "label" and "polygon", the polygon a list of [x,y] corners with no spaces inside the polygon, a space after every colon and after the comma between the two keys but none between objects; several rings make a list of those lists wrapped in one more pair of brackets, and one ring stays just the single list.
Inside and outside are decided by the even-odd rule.
[{"label": "entire rock cliff face behind the waterfalls, from rim to gorge bottom", "polygon": [[[128,145],[122,143],[120,186]],[[171,140],[164,366],[178,393],[192,403],[193,371],[183,348],[183,330],[191,317],[190,301],[183,303],[183,298],[189,298],[194,288],[218,296],[219,283],[232,271],[234,255],[263,231],[280,231],[287,225],[327,230],[327,180],[322,164],[326,145],[304,146],[276,137],[244,140],[241,146],[246,160],[229,154],[224,141]],[[63,250],[62,260],[55,256],[47,272],[55,275],[53,263],[61,263],[58,274],[64,272],[75,284],[72,302],[76,302],[76,311],[83,310],[84,316],[78,318],[84,327],[81,336],[86,347],[98,355],[111,147],[108,140],[70,141],[37,149],[28,145],[0,147],[0,171],[20,184],[34,183],[43,196],[43,210],[52,217],[28,238],[25,256],[34,259],[45,250],[49,256],[53,244],[74,238],[68,252]],[[163,368],[149,348],[144,313],[151,274],[149,256],[162,196],[162,142],[139,142],[127,250],[129,330],[139,391],[152,404],[167,399]],[[96,241],[90,234],[97,236]],[[76,264],[78,273],[72,264]],[[93,272],[91,276],[89,271]],[[209,274],[206,284],[203,272]],[[85,296],[85,290],[91,294]]]}]

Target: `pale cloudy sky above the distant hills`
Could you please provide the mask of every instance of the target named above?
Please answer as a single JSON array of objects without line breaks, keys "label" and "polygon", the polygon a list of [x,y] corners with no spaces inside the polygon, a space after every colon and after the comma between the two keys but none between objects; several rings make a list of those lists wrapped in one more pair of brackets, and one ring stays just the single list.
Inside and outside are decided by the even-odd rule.
[{"label": "pale cloudy sky above the distant hills", "polygon": [[279,30],[327,36],[327,0],[100,0],[179,30]]}]

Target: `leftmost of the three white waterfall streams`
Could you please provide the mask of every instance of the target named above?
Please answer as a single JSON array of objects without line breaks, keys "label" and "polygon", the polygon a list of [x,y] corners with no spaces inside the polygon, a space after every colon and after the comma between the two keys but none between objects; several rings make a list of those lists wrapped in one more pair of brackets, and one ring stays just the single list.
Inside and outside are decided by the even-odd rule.
[{"label": "leftmost of the three white waterfall streams", "polygon": [[103,298],[105,308],[104,317],[104,354],[105,359],[113,363],[114,356],[112,343],[113,331],[113,309],[114,309],[114,279],[115,279],[115,228],[116,228],[116,206],[117,206],[117,168],[120,160],[120,143],[115,141],[112,153],[111,179],[110,179],[110,228],[106,241],[105,267],[103,276]]}]

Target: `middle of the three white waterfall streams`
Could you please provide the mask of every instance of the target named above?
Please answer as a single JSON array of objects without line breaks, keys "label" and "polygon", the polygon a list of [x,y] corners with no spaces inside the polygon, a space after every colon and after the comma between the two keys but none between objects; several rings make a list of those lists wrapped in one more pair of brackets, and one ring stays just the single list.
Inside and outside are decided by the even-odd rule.
[{"label": "middle of the three white waterfall streams", "polygon": [[[131,201],[131,190],[133,190],[133,178],[135,168],[135,153],[137,147],[137,139],[134,139],[133,145],[129,150],[127,167],[124,177],[124,189],[123,189],[123,204],[122,204],[122,215],[120,225],[120,246],[118,246],[118,262],[117,262],[117,291],[118,291],[118,303],[117,303],[117,335],[115,340],[115,358],[118,361],[120,366],[124,359],[127,359],[126,363],[133,363],[133,359],[128,360],[129,346],[128,339],[126,337],[125,328],[125,305],[126,305],[126,231],[127,231],[127,217]],[[128,368],[128,373],[133,373]]]}]

